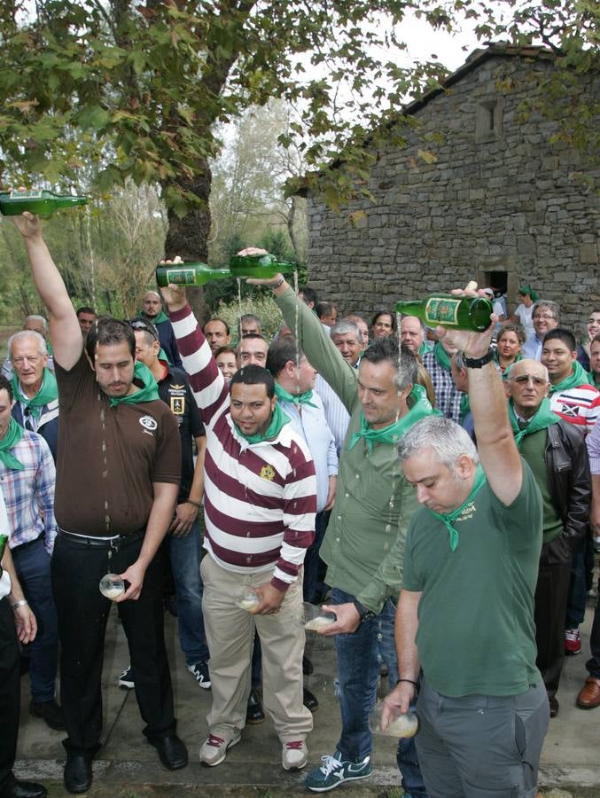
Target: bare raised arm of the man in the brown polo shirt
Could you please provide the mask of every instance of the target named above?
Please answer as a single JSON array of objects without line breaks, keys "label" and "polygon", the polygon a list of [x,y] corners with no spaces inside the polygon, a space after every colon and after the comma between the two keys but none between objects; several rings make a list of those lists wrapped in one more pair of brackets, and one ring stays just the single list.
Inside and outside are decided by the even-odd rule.
[{"label": "bare raised arm of the man in the brown polo shirt", "polygon": [[82,331],[73,302],[43,240],[38,217],[24,213],[11,219],[25,241],[35,288],[48,309],[54,360],[68,372],[81,357],[83,348]]}]

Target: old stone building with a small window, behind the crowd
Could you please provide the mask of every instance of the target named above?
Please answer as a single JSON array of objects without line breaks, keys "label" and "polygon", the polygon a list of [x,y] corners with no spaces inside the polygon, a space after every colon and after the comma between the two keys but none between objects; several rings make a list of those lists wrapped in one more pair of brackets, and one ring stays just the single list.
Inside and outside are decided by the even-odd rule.
[{"label": "old stone building with a small window, behind the crowd", "polygon": [[[309,196],[319,295],[369,315],[475,278],[506,290],[512,309],[530,283],[580,325],[600,305],[598,161],[555,141],[556,121],[525,113],[555,68],[544,48],[475,51],[443,89],[403,109],[418,124],[406,147],[378,150],[374,201],[336,214]],[[598,74],[576,87],[598,102]]]}]

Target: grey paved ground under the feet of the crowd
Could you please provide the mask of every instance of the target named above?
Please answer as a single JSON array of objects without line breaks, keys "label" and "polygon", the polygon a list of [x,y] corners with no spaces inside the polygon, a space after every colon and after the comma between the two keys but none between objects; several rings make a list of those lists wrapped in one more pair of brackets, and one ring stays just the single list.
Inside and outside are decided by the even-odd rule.
[{"label": "grey paved ground under the feet of the crowd", "polygon": [[[600,708],[582,711],[575,706],[575,696],[587,672],[588,633],[593,614],[588,607],[583,631],[583,655],[566,661],[558,700],[560,712],[550,722],[542,754],[540,787],[544,798],[595,796],[600,798]],[[240,744],[233,747],[227,760],[216,768],[198,762],[198,749],[206,735],[206,711],[210,691],[200,690],[186,671],[179,652],[175,622],[167,615],[168,648],[175,682],[178,732],[188,745],[190,764],[174,773],[160,766],[156,753],[144,740],[143,722],[133,692],[117,687],[119,673],[129,663],[127,645],[113,613],[109,622],[104,669],[105,745],[94,763],[94,786],[90,795],[100,798],[136,798],[183,795],[228,796],[228,798],[287,798],[307,795],[300,773],[286,773],[281,767],[281,748],[269,720],[249,726]],[[309,766],[319,763],[323,754],[331,754],[339,735],[339,708],[334,695],[335,653],[331,640],[310,635],[308,653],[315,664],[315,674],[307,685],[320,701],[315,714],[315,730],[308,738]],[[386,693],[382,680],[381,695]],[[29,716],[27,677],[22,680],[22,712],[19,732],[19,778],[43,779],[51,795],[66,794],[62,787],[63,734],[52,732],[42,721]],[[1,720],[0,720],[1,722]],[[374,754],[373,776],[360,786],[341,786],[336,795],[346,798],[379,796],[400,798],[400,779],[395,765],[394,743],[378,738]]]}]

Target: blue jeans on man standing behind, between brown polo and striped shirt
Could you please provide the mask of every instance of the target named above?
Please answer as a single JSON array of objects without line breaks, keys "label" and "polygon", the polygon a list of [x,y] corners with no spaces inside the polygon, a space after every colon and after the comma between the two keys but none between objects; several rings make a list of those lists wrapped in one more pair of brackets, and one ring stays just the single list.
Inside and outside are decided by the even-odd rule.
[{"label": "blue jeans on man standing behind, between brown polo and striped shirt", "polygon": [[209,653],[202,615],[202,551],[198,521],[185,537],[170,537],[171,570],[177,593],[177,625],[179,643],[185,654],[185,664],[208,661]]}]

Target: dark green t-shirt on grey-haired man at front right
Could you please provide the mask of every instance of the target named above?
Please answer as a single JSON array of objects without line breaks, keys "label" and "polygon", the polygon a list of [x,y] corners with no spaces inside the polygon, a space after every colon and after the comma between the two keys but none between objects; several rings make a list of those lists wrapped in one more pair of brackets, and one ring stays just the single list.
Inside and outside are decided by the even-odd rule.
[{"label": "dark green t-shirt on grey-haired man at front right", "polygon": [[423,507],[410,523],[402,587],[421,592],[417,649],[427,683],[452,697],[516,695],[535,666],[534,591],[542,497],[521,458],[523,484],[506,507],[486,483],[448,529]]}]

